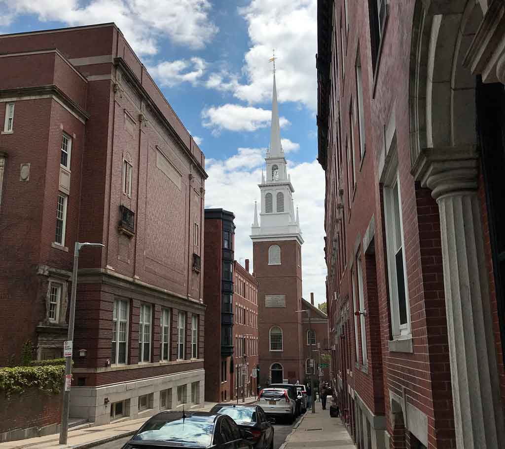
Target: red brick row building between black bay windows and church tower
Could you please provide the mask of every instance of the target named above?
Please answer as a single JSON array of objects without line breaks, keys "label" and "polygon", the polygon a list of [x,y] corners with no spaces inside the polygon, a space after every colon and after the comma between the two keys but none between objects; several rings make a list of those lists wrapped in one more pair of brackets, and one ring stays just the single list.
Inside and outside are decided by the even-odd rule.
[{"label": "red brick row building between black bay windows and church tower", "polygon": [[233,392],[238,397],[256,396],[258,357],[258,281],[245,267],[233,262],[233,336],[235,338],[235,375]]}]

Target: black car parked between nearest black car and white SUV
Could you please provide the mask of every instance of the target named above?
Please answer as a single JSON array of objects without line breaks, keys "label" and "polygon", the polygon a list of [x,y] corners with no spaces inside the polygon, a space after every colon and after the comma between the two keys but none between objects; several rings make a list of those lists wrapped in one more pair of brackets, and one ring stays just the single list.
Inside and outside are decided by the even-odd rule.
[{"label": "black car parked between nearest black car and white SUV", "polygon": [[[245,432],[245,437],[258,449],[274,447],[274,418],[267,418],[264,410],[255,405],[238,405],[231,403],[216,404],[210,413],[228,415]],[[249,432],[249,433],[247,433]]]}]

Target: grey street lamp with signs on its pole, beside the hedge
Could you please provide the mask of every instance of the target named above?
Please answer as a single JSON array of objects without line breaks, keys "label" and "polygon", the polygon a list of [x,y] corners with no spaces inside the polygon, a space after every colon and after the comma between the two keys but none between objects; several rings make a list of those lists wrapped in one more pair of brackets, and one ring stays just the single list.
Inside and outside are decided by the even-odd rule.
[{"label": "grey street lamp with signs on its pole, beside the hedge", "polygon": [[[75,319],[75,296],[77,294],[77,268],[79,265],[79,251],[83,246],[102,246],[102,243],[79,243],[75,242],[74,246],[74,268],[72,270],[72,295],[70,296],[70,317],[68,320],[68,337],[67,342],[70,342],[73,348],[74,339],[74,319]],[[65,355],[65,354],[64,354]],[[63,408],[62,408],[62,424],[60,430],[60,444],[67,444],[68,437],[68,413],[70,410],[70,382],[72,379],[72,352],[65,357],[65,391],[63,393]],[[68,380],[67,380],[68,379]]]}]

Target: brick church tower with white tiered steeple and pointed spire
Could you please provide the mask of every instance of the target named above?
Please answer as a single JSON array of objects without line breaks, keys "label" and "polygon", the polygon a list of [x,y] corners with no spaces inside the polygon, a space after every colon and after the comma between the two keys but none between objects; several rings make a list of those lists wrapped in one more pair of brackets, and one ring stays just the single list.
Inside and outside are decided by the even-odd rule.
[{"label": "brick church tower with white tiered steeple and pointed spire", "polygon": [[272,94],[270,148],[262,173],[261,224],[255,204],[251,228],[254,271],[259,281],[259,360],[261,386],[304,379],[301,309],[301,237],[291,178],[281,146],[277,89]]}]

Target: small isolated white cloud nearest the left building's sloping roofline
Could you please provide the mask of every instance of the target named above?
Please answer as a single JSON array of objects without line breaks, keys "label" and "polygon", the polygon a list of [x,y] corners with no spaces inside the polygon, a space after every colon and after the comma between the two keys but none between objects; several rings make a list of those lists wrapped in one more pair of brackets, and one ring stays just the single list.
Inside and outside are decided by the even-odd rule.
[{"label": "small isolated white cloud nearest the left building's sloping roofline", "polygon": [[179,59],[176,61],[163,61],[149,68],[149,73],[154,76],[160,85],[173,87],[183,82],[196,85],[205,73],[207,63],[201,58]]}]

